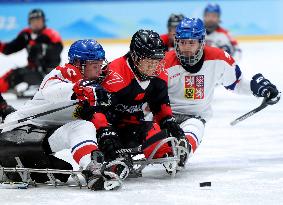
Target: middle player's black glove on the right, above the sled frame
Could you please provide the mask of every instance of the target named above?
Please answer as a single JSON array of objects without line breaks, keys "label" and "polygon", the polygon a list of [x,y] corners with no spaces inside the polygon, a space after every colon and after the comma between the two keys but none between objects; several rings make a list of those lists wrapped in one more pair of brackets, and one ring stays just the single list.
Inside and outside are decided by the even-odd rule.
[{"label": "middle player's black glove on the right, above the sled frame", "polygon": [[185,138],[183,129],[179,126],[174,117],[165,118],[160,123],[160,128],[166,129],[168,131],[168,134],[170,134],[172,137],[177,138],[178,140]]}]

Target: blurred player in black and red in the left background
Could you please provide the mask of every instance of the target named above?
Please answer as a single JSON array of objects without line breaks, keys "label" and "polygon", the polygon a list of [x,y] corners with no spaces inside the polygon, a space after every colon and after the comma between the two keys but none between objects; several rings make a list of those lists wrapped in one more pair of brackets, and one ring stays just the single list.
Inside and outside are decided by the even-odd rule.
[{"label": "blurred player in black and red in the left background", "polygon": [[19,96],[24,95],[28,86],[39,85],[43,77],[60,63],[62,40],[57,31],[46,26],[44,12],[41,9],[31,10],[28,24],[29,27],[24,28],[14,40],[0,41],[0,53],[10,55],[22,49],[28,53],[26,66],[11,69],[0,77],[1,93],[15,89]]}]

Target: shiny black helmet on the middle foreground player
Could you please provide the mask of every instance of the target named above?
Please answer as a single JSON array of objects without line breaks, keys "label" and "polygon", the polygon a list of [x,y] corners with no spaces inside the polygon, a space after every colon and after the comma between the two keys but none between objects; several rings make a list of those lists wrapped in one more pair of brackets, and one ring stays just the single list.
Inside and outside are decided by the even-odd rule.
[{"label": "shiny black helmet on the middle foreground player", "polygon": [[[158,33],[153,30],[138,30],[132,37],[130,53],[140,59],[164,58],[165,46]],[[133,59],[135,60],[135,59]]]}]

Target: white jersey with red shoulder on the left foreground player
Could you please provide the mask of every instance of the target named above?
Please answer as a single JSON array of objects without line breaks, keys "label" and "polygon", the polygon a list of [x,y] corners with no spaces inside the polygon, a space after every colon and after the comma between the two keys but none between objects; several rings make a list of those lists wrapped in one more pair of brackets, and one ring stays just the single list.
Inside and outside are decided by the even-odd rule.
[{"label": "white jersey with red shoulder on the left foreground player", "polygon": [[[45,76],[33,99],[26,102],[26,104],[16,112],[8,115],[4,123],[75,103],[76,101],[71,100],[73,94],[72,89],[74,83],[81,78],[82,76],[76,67],[70,64],[66,64],[64,67],[58,66]],[[39,126],[63,125],[76,119],[74,116],[75,109],[76,106],[74,105],[67,109],[28,120],[15,126],[9,126],[7,129],[3,129],[3,131],[8,131],[24,124]]]}]

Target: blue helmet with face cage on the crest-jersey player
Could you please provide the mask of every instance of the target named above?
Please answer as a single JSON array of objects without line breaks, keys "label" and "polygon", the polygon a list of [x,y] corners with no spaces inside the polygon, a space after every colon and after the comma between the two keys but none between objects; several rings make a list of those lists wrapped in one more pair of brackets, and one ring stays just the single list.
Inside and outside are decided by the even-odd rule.
[{"label": "blue helmet with face cage on the crest-jersey player", "polygon": [[[179,58],[183,66],[193,66],[202,57],[203,47],[205,43],[205,26],[201,19],[199,18],[184,18],[176,28],[175,35],[175,49],[177,52],[177,57]],[[181,39],[198,40],[199,49],[193,56],[185,56],[179,48],[179,41]]]}]

